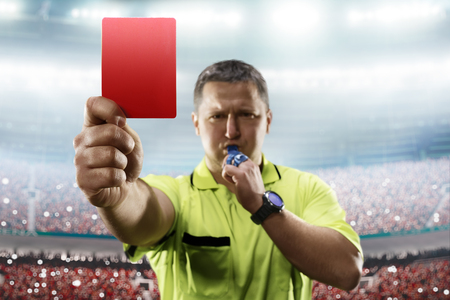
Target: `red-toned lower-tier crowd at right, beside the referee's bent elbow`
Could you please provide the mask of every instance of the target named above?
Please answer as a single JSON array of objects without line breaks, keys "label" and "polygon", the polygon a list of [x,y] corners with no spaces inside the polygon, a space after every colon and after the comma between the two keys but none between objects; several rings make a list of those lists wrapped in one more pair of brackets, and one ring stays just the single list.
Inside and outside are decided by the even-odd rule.
[{"label": "red-toned lower-tier crowd at right, beside the referee's bent elbow", "polygon": [[449,249],[440,249],[406,259],[369,259],[364,284],[346,292],[315,282],[313,299],[450,299],[449,254]]}]

